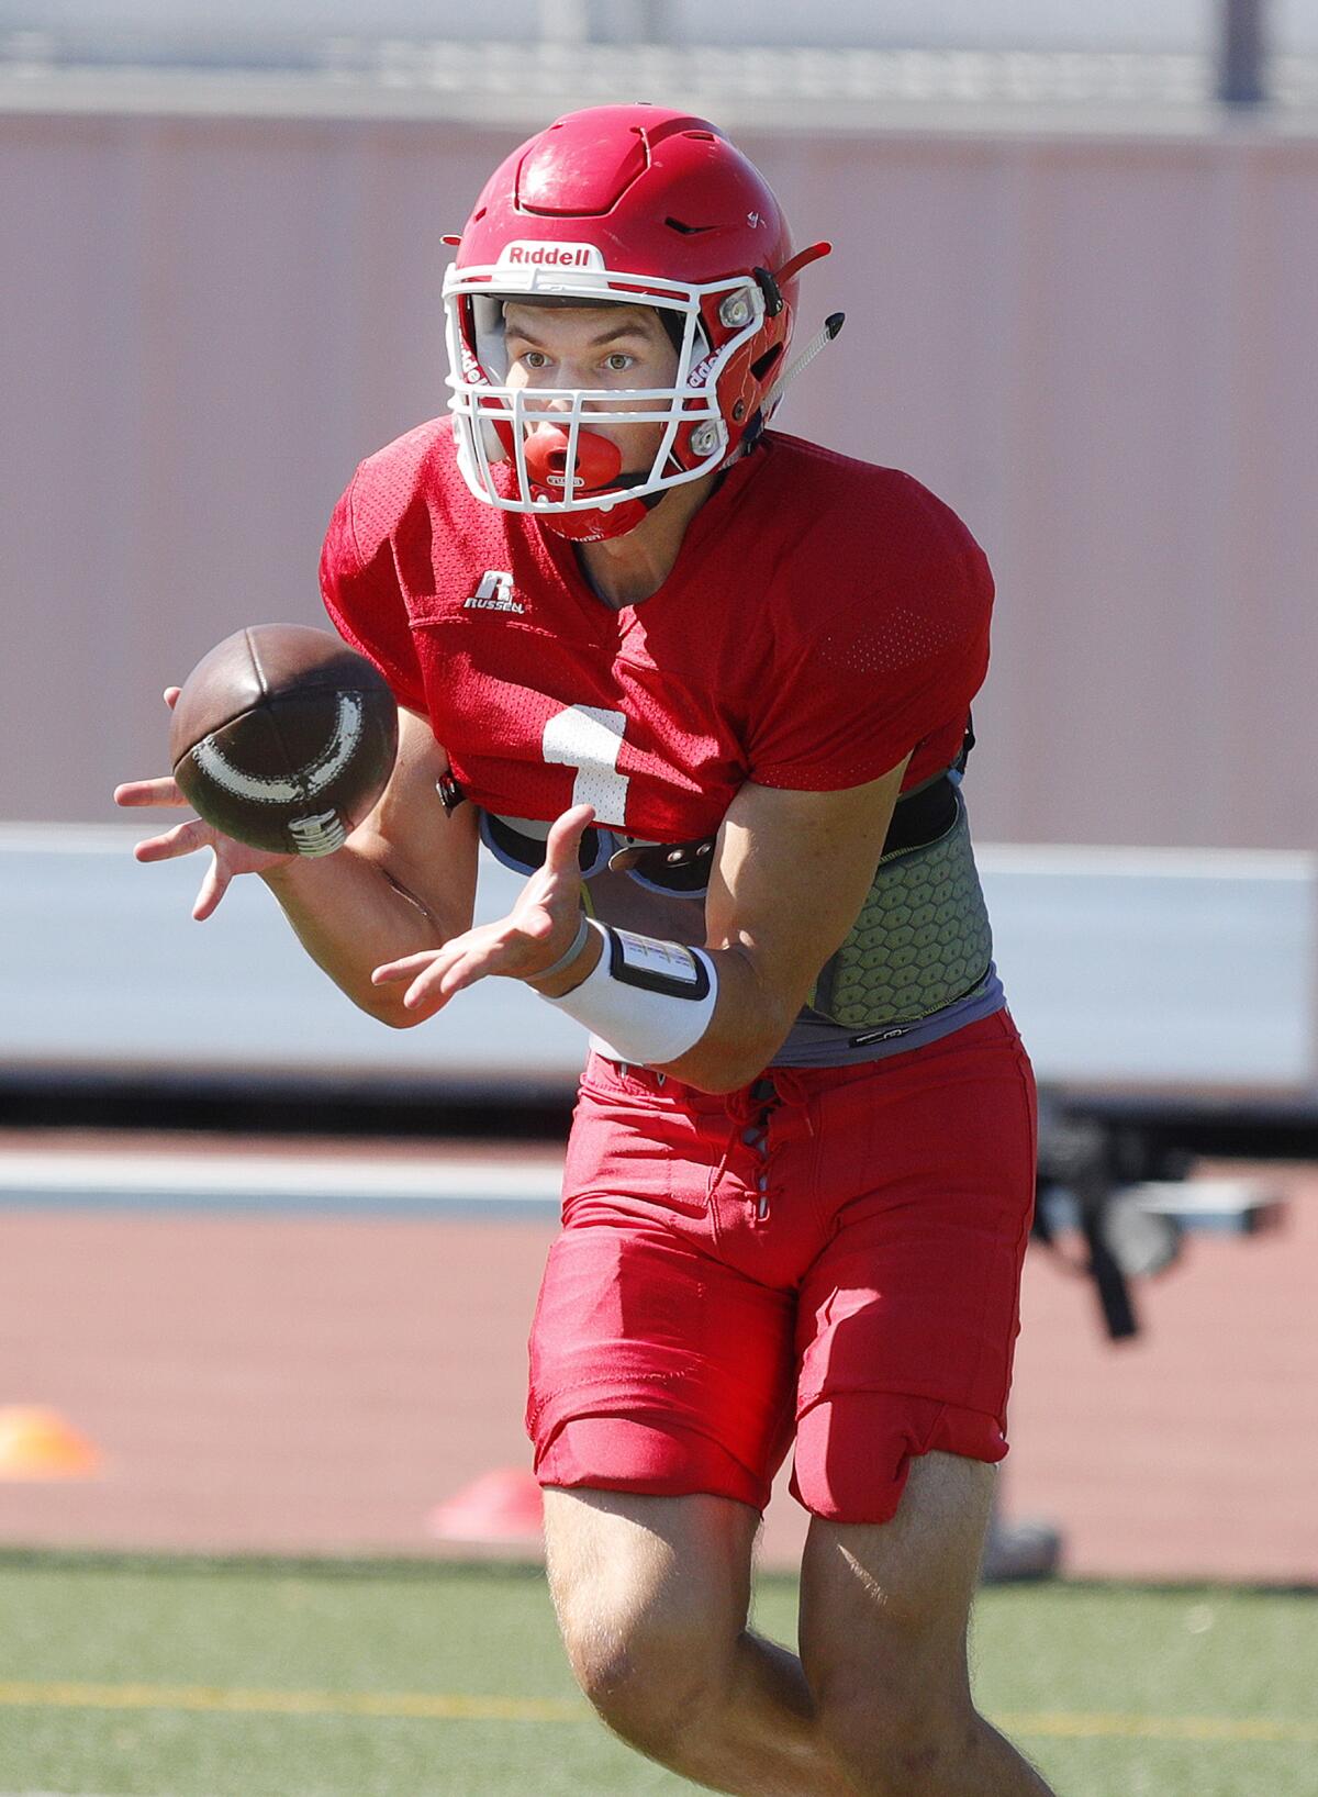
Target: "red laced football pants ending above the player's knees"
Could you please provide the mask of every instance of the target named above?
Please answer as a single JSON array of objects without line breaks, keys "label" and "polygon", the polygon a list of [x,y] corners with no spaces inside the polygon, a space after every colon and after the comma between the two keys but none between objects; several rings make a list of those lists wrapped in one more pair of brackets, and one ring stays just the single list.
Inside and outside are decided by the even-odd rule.
[{"label": "red laced football pants ending above the player's knees", "polygon": [[1034,1202],[1000,1012],[714,1096],[592,1057],[530,1339],[541,1484],[886,1522],[913,1454],[998,1461]]}]

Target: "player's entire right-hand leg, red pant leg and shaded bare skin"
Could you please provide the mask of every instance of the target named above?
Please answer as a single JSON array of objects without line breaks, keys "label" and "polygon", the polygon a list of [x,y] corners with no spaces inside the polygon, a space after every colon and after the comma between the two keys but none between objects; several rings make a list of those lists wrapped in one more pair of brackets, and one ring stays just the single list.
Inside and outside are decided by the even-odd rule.
[{"label": "player's entire right-hand leg, red pant leg and shaded bare skin", "polygon": [[1034,1197],[1029,1062],[989,1017],[824,1093],[818,1129],[820,1200],[843,1200],[798,1315],[818,1725],[865,1797],[1037,1797],[966,1668]]}]

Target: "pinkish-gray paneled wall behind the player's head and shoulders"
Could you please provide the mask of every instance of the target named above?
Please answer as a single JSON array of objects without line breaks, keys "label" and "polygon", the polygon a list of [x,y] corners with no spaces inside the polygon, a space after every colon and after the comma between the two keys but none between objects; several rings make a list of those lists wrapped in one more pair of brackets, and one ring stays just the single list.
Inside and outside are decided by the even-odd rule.
[{"label": "pinkish-gray paneled wall behind the player's head and shoulders", "polygon": [[[354,462],[442,406],[439,234],[518,135],[0,117],[0,818],[111,816],[167,679],[318,620]],[[780,424],[994,562],[978,834],[1313,845],[1318,140],[737,135],[836,243],[806,332],[849,313]]]}]

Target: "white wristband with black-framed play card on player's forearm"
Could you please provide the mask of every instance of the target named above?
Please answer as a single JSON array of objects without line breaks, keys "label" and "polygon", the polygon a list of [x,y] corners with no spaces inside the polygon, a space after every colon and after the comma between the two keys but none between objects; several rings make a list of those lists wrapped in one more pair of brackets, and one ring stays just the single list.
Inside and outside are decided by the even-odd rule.
[{"label": "white wristband with black-framed play card on player's forearm", "polygon": [[602,942],[579,987],[547,1005],[604,1039],[604,1053],[638,1066],[663,1066],[705,1035],[719,996],[719,976],[703,949],[637,936],[590,920]]}]

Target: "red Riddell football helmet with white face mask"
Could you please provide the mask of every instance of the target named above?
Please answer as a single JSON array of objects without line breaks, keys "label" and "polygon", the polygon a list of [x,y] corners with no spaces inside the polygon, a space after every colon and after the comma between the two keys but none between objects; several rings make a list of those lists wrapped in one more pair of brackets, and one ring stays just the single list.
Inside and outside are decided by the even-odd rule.
[{"label": "red Riddell football helmet with white face mask", "polygon": [[[779,203],[741,151],[660,106],[595,106],[539,131],[446,243],[459,248],[444,311],[468,485],[581,541],[635,530],[669,487],[753,440],[782,376],[797,273],[829,248],[793,257]],[[514,297],[656,307],[678,349],[672,386],[509,386],[503,300]],[[590,426],[638,422],[663,426],[662,442],[647,473],[622,473],[617,446]]]}]

